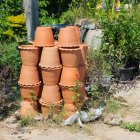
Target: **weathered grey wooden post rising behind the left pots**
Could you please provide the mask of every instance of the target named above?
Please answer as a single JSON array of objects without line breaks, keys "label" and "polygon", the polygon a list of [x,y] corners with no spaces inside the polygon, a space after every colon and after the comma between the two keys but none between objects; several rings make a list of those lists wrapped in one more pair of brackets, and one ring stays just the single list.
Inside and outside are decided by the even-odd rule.
[{"label": "weathered grey wooden post rising behind the left pots", "polygon": [[24,11],[26,19],[27,38],[34,40],[35,29],[39,26],[38,0],[24,0]]}]

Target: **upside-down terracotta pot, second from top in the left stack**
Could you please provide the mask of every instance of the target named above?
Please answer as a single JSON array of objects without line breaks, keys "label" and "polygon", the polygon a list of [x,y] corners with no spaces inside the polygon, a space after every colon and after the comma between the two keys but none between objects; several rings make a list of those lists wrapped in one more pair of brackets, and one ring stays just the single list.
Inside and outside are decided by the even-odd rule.
[{"label": "upside-down terracotta pot, second from top in the left stack", "polygon": [[34,85],[40,82],[37,67],[22,65],[19,84]]}]

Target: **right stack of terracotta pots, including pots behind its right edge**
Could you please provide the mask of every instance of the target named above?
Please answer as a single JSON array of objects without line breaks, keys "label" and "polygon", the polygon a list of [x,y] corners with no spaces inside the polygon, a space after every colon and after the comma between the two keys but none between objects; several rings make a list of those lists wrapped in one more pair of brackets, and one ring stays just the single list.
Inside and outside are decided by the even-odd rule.
[{"label": "right stack of terracotta pots, including pots behind its right edge", "polygon": [[[84,102],[86,92],[84,89],[84,75],[86,71],[86,51],[87,45],[80,45],[80,31],[76,26],[61,28],[58,37],[58,46],[62,59],[62,74],[60,87],[64,100],[64,118],[74,114],[78,108],[77,93],[70,88],[74,88],[76,81],[79,81],[80,100]],[[77,106],[78,105],[78,106]]]}]

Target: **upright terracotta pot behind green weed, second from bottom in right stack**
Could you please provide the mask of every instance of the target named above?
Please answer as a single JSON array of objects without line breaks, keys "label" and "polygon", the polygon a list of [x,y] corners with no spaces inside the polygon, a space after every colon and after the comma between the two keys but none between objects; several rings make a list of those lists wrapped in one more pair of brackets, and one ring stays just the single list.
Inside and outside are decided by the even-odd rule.
[{"label": "upright terracotta pot behind green weed, second from bottom in right stack", "polygon": [[[77,104],[83,98],[83,95],[80,92],[81,88],[79,88],[79,93],[72,91],[71,90],[72,88],[73,87],[61,86],[62,97],[63,97],[64,103]],[[81,94],[81,95],[79,96],[78,94]]]}]

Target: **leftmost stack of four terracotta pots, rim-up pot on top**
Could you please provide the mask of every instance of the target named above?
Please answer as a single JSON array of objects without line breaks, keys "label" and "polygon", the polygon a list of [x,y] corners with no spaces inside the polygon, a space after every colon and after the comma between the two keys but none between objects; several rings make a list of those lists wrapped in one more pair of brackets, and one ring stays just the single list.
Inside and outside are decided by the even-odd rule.
[{"label": "leftmost stack of four terracotta pots, rim-up pot on top", "polygon": [[18,84],[20,86],[21,116],[35,116],[38,111],[38,98],[40,96],[41,81],[38,73],[40,49],[33,45],[21,45],[18,47],[22,67]]}]

